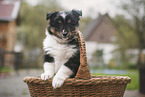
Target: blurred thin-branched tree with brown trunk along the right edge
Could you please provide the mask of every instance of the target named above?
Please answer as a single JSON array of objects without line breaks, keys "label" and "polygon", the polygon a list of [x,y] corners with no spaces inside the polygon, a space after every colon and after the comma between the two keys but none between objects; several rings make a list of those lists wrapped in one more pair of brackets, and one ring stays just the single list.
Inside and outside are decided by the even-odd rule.
[{"label": "blurred thin-branched tree with brown trunk along the right edge", "polygon": [[130,0],[124,2],[122,8],[132,18],[133,29],[138,39],[138,45],[136,45],[136,48],[139,50],[137,64],[145,64],[145,62],[141,60],[143,49],[145,49],[145,1]]}]

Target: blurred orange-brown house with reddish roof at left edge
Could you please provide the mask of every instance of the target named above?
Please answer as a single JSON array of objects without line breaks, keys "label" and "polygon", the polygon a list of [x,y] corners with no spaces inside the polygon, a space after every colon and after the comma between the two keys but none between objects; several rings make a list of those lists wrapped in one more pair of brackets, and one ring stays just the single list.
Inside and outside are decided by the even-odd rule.
[{"label": "blurred orange-brown house with reddish roof at left edge", "polygon": [[14,56],[20,0],[0,0],[0,66]]}]

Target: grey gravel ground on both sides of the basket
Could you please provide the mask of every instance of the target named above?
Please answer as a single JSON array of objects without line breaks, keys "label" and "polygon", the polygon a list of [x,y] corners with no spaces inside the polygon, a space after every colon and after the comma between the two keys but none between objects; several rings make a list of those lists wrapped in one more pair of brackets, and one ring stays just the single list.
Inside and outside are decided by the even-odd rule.
[{"label": "grey gravel ground on both sides of the basket", "polygon": [[[19,76],[15,72],[12,72],[8,76],[0,78],[0,97],[30,97],[27,84],[23,82],[26,76],[40,75],[43,70],[31,69],[20,70]],[[145,97],[145,95],[139,94],[138,90],[126,90],[124,97]]]}]

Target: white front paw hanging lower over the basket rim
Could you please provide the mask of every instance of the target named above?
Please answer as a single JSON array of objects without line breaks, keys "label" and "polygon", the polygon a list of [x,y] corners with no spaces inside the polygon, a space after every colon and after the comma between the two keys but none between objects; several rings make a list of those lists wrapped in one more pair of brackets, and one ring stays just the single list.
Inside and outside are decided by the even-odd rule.
[{"label": "white front paw hanging lower over the basket rim", "polygon": [[53,78],[53,81],[52,81],[52,86],[53,86],[53,88],[56,89],[56,88],[61,87],[61,86],[63,85],[64,81],[65,81],[64,79],[55,76],[55,77]]}]

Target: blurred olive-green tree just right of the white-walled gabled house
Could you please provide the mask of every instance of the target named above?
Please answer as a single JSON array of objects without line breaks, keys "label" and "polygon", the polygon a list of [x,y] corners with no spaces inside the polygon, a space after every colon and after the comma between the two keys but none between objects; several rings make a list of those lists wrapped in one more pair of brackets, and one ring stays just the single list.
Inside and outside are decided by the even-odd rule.
[{"label": "blurred olive-green tree just right of the white-walled gabled house", "polygon": [[131,20],[127,19],[124,15],[116,15],[113,18],[113,22],[118,30],[118,33],[115,33],[117,36],[115,44],[119,44],[117,51],[119,51],[121,55],[120,61],[121,63],[126,64],[130,59],[130,56],[128,56],[126,52],[128,48],[132,49],[137,47],[138,38],[136,37]]}]

